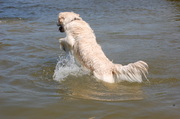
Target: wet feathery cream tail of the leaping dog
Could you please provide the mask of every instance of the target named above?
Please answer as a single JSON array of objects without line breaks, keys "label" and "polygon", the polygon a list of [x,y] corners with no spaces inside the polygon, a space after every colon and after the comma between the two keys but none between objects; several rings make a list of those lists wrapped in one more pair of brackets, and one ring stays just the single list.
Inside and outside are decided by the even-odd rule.
[{"label": "wet feathery cream tail of the leaping dog", "polygon": [[129,81],[140,83],[143,81],[143,78],[147,79],[148,65],[144,61],[137,61],[124,66],[115,64],[115,67],[114,78],[116,82]]}]

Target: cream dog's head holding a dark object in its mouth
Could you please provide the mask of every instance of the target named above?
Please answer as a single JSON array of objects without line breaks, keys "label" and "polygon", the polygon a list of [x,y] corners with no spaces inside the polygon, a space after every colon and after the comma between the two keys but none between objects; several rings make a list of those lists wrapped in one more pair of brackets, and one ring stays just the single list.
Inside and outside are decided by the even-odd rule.
[{"label": "cream dog's head holding a dark object in its mouth", "polygon": [[74,20],[81,20],[79,14],[74,12],[61,12],[58,16],[57,26],[59,26],[60,32],[65,32],[64,26]]}]

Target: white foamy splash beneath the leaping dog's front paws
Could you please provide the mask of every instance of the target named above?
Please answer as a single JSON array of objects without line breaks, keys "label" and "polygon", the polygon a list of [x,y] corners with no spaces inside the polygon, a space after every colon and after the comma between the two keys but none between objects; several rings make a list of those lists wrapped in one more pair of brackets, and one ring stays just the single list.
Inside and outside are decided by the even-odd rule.
[{"label": "white foamy splash beneath the leaping dog's front paws", "polygon": [[63,81],[68,75],[78,74],[80,69],[81,68],[76,65],[74,57],[70,53],[66,54],[66,56],[59,56],[53,79],[55,81]]}]

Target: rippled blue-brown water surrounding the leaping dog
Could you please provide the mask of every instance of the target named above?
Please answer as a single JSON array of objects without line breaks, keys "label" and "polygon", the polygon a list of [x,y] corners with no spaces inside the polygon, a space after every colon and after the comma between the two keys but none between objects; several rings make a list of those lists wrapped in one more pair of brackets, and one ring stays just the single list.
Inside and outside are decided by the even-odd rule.
[{"label": "rippled blue-brown water surrounding the leaping dog", "polygon": [[[150,82],[107,84],[58,66],[61,11],[79,13],[113,62],[146,61]],[[0,0],[0,118],[180,117],[179,13],[179,0]]]}]

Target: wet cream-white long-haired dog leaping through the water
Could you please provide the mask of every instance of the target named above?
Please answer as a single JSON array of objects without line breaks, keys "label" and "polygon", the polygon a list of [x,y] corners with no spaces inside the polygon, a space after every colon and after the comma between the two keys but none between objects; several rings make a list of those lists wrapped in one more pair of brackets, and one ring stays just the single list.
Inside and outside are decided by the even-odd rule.
[{"label": "wet cream-white long-haired dog leaping through the water", "polygon": [[65,51],[70,51],[75,60],[90,70],[93,75],[102,81],[115,83],[120,81],[142,82],[148,73],[148,65],[138,61],[122,66],[110,61],[96,42],[93,30],[79,14],[74,12],[59,13],[58,23],[60,32],[66,37],[60,39]]}]

